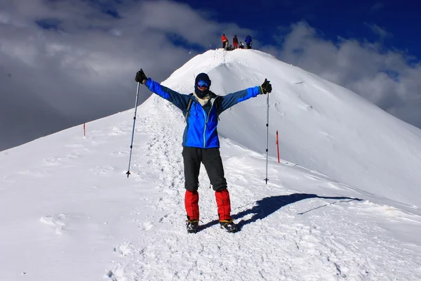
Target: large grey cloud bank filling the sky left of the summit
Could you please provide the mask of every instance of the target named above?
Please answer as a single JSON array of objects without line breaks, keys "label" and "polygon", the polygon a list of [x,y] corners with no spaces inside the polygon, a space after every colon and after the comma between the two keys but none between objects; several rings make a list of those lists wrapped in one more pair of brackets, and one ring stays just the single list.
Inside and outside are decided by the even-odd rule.
[{"label": "large grey cloud bank filling the sky left of the summit", "polygon": [[[101,5],[114,5],[119,18],[102,13]],[[51,120],[37,114],[41,107],[66,126],[126,110],[133,107],[141,67],[161,81],[199,48],[219,47],[223,32],[253,34],[173,1],[5,0],[0,11],[0,103],[15,107],[8,116],[0,111],[0,119],[9,120],[0,126],[25,132],[31,115],[42,126],[27,141],[64,129],[49,126]],[[42,29],[36,22],[43,20],[57,28]],[[142,91],[140,102],[149,94]]]}]

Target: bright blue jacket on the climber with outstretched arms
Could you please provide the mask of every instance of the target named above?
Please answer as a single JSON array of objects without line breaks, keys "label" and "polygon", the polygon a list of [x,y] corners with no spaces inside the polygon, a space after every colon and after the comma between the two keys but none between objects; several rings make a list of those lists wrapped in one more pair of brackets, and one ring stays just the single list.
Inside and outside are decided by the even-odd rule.
[{"label": "bright blue jacket on the climber with outstretched arms", "polygon": [[[217,96],[210,92],[210,102],[204,107],[196,100],[194,95],[177,93],[165,86],[160,85],[152,79],[147,79],[145,84],[149,90],[158,96],[169,100],[173,105],[182,110],[182,114],[187,116],[186,127],[182,136],[182,146],[192,148],[219,148],[218,116],[232,105],[236,105],[243,100],[255,98],[262,93],[260,86],[248,88],[227,96]],[[193,102],[187,115],[187,103],[192,98]]]}]

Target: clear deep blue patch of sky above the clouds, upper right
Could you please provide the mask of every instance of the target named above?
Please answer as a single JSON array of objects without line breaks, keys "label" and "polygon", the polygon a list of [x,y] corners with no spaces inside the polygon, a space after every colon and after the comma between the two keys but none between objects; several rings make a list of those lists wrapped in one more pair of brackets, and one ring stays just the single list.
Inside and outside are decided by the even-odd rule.
[{"label": "clear deep blue patch of sky above the clouds, upper right", "polygon": [[[399,48],[421,57],[421,3],[417,1],[197,1],[180,0],[221,22],[236,22],[255,31],[256,39],[274,44],[279,27],[288,32],[292,22],[305,20],[327,39],[337,37],[368,39],[382,37],[385,46]],[[281,30],[280,30],[281,32]],[[282,32],[281,32],[282,33]],[[231,40],[231,38],[229,38]],[[241,39],[243,40],[243,39]]]}]

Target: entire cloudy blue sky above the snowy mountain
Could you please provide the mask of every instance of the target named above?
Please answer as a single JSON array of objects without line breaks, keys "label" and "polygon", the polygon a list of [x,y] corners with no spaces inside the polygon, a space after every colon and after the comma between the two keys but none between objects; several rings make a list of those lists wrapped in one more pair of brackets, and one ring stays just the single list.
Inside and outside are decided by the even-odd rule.
[{"label": "entire cloudy blue sky above the snowy mountain", "polygon": [[[0,1],[0,150],[133,107],[221,34],[344,86],[421,128],[415,1]],[[25,77],[22,79],[21,77]],[[140,102],[149,92],[141,93]]]}]

